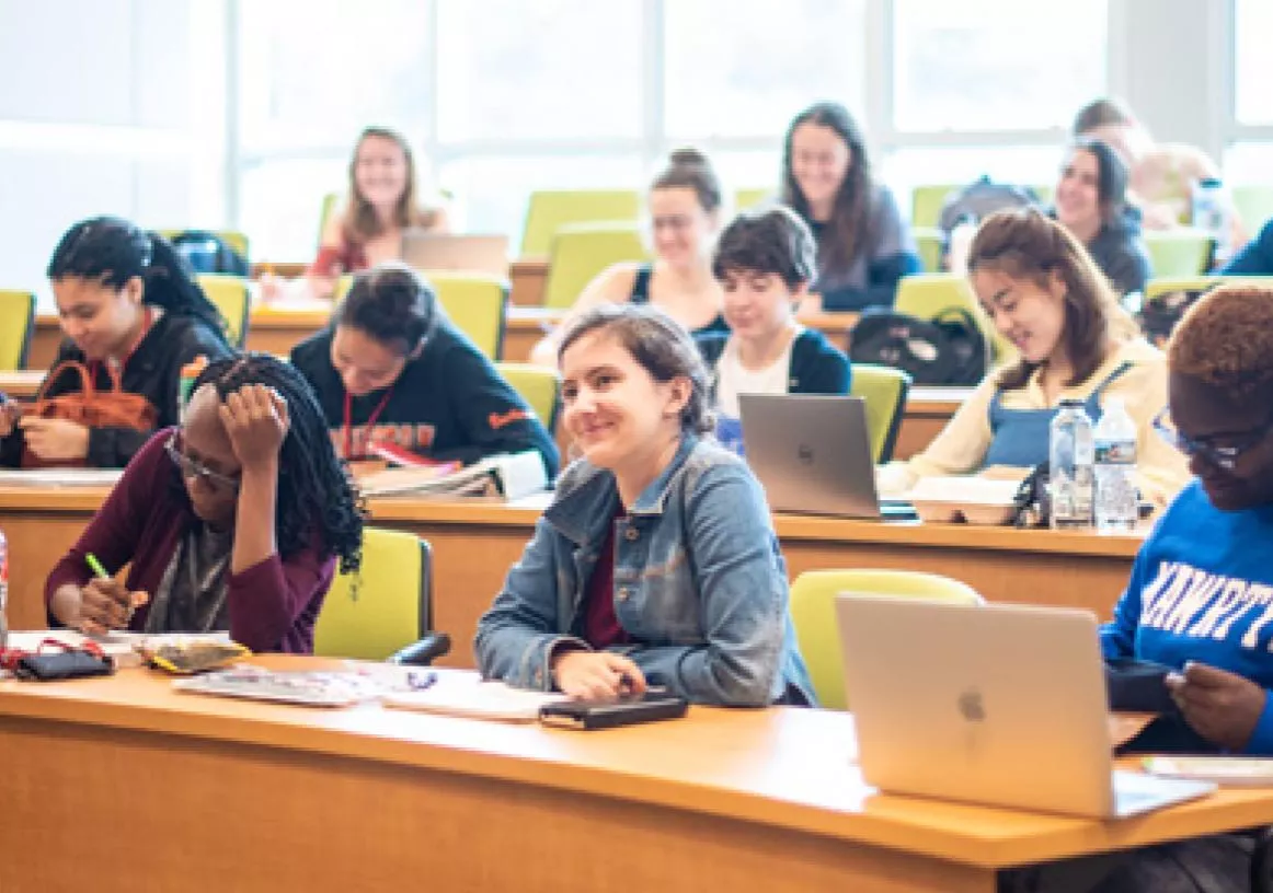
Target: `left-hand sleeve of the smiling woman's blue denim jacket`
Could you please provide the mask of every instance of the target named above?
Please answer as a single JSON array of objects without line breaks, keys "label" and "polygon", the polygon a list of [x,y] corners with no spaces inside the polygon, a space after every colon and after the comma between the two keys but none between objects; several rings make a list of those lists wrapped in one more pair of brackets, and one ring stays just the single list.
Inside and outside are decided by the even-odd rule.
[{"label": "left-hand sleeve of the smiling woman's blue denim jacket", "polygon": [[477,621],[477,669],[482,678],[518,688],[552,689],[549,660],[560,642],[587,649],[558,623],[559,569],[554,539],[559,534],[540,518],[522,558],[508,571],[504,589]]}]

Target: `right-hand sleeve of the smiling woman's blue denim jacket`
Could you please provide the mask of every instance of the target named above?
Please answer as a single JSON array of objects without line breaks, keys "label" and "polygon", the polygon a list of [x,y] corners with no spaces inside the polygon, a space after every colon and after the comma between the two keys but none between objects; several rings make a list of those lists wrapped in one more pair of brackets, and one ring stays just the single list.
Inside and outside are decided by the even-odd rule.
[{"label": "right-hand sleeve of the smiling woman's blue denim jacket", "polygon": [[741,464],[708,468],[685,496],[705,645],[620,646],[647,678],[696,703],[765,706],[780,693],[787,576],[760,486]]}]

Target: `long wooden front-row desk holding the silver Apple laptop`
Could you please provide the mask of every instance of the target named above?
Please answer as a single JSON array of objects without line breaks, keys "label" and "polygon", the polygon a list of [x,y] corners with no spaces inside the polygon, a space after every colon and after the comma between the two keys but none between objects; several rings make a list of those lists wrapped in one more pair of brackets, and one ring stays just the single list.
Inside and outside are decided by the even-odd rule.
[{"label": "long wooden front-row desk holding the silver Apple laptop", "polygon": [[[881,795],[854,747],[848,714],[789,707],[589,735],[181,695],[141,669],[9,681],[0,875],[14,890],[990,893],[998,869],[1273,813],[1268,789],[1130,822]],[[121,819],[108,857],[67,857]]]}]

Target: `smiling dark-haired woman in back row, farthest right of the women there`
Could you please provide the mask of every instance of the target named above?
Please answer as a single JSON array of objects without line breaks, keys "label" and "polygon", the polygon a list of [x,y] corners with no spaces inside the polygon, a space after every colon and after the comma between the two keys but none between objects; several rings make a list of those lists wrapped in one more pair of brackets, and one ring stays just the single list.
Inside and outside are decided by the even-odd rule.
[{"label": "smiling dark-haired woman in back row, farthest right of the women there", "polygon": [[1053,216],[1083,243],[1118,294],[1144,290],[1150,253],[1141,212],[1127,204],[1127,167],[1109,145],[1080,139],[1069,148]]}]

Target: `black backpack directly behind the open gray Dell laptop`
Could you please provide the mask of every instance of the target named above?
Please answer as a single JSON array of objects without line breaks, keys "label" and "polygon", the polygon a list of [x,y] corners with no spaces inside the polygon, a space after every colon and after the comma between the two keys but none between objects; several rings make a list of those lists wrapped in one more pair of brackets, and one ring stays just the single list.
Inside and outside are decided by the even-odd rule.
[{"label": "black backpack directly behind the open gray Dell laptop", "polygon": [[976,384],[985,378],[990,346],[960,307],[919,319],[882,307],[863,310],[849,337],[849,359],[910,373],[915,384]]}]

